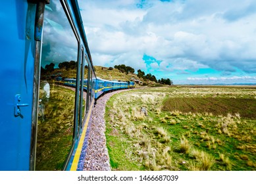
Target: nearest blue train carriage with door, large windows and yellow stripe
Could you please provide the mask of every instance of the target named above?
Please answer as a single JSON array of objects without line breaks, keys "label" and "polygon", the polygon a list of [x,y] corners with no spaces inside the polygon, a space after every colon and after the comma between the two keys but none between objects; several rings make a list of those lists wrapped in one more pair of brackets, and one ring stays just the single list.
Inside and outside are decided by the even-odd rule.
[{"label": "nearest blue train carriage with door, large windows and yellow stripe", "polygon": [[[82,170],[96,85],[78,2],[10,0],[0,12],[0,170]],[[51,78],[58,67],[73,90]]]}]

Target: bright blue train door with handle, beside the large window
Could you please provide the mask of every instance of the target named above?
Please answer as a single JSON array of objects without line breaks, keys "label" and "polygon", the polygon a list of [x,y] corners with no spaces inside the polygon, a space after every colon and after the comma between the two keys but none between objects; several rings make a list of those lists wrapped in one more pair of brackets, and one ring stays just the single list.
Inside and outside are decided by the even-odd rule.
[{"label": "bright blue train door with handle, beside the large window", "polygon": [[0,170],[30,170],[36,4],[1,1]]}]

